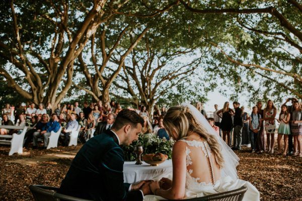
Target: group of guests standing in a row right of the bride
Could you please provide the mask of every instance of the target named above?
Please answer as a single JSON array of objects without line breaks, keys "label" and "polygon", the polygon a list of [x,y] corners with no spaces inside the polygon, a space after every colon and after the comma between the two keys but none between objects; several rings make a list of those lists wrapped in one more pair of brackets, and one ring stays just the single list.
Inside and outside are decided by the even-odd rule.
[{"label": "group of guests standing in a row right of the bride", "polygon": [[[290,106],[287,106],[291,102]],[[222,131],[222,139],[231,146],[233,132],[233,149],[241,150],[241,146],[251,147],[252,152],[269,153],[277,155],[293,155],[302,157],[302,105],[297,98],[287,98],[286,102],[281,105],[281,112],[277,116],[277,108],[272,100],[268,100],[265,108],[262,102],[257,102],[249,115],[245,108],[241,107],[238,102],[225,102],[223,109],[218,110],[214,105],[213,120],[215,126]],[[277,130],[277,124],[279,127]],[[213,127],[214,128],[214,127]],[[217,130],[216,128],[214,128]],[[274,150],[275,132],[277,130],[277,151]],[[266,134],[266,143],[265,143]],[[281,147],[283,137],[284,147]],[[293,139],[293,140],[292,140]]]}]

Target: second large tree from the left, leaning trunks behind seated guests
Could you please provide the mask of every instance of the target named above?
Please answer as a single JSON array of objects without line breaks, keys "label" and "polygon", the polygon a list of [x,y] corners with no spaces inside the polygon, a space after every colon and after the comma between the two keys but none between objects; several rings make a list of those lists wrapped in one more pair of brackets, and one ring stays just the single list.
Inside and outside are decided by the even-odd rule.
[{"label": "second large tree from the left, leaning trunks behind seated guests", "polygon": [[[110,100],[110,87],[126,57],[150,28],[155,30],[157,19],[176,4],[154,1],[153,5],[157,9],[146,7],[144,2],[129,1],[119,10],[112,10],[115,15],[99,27],[83,55],[79,55],[77,66],[84,77],[76,81],[77,88],[91,94],[96,100]],[[130,12],[133,14],[126,14]],[[112,60],[115,62],[110,62]]]}]

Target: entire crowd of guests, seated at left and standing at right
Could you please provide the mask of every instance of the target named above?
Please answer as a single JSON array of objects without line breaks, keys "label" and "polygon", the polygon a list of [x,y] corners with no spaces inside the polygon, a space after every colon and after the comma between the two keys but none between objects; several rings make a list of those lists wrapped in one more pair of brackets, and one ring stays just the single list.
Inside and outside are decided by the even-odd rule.
[{"label": "entire crowd of guests, seated at left and standing at right", "polygon": [[[288,102],[291,102],[290,106],[287,106]],[[201,114],[207,117],[201,102],[197,102],[195,106]],[[278,118],[276,118],[277,108],[272,100],[267,101],[265,108],[263,108],[262,102],[257,102],[251,114],[245,112],[245,108],[240,107],[238,102],[233,103],[233,108],[230,107],[229,102],[225,102],[220,110],[218,105],[214,105],[214,108],[213,118],[208,118],[209,124],[230,146],[233,137],[233,149],[241,150],[242,146],[248,146],[251,147],[252,152],[275,153],[283,156],[291,154],[302,157],[302,106],[297,98],[286,99],[286,102],[281,105]],[[142,134],[153,133],[160,138],[165,137],[169,140],[169,135],[163,125],[163,119],[167,113],[164,106],[160,108],[155,105],[151,114],[144,105],[138,106],[137,109],[128,109],[136,111],[144,119]],[[61,143],[66,146],[71,130],[77,128],[78,125],[81,125],[79,141],[83,143],[92,137],[93,131],[95,131],[95,136],[111,129],[115,117],[122,107],[113,100],[104,104],[99,100],[96,103],[84,102],[83,108],[78,102],[75,102],[74,105],[61,106],[58,104],[52,110],[50,103],[46,108],[43,104],[39,104],[38,107],[35,104],[30,104],[28,107],[21,104],[16,108],[6,104],[2,110],[2,124],[26,125],[32,128],[25,135],[24,146],[26,148],[31,142],[33,142],[33,148],[36,148],[38,138],[44,138],[44,147],[46,147],[51,131],[57,132],[61,126],[63,128]],[[277,151],[274,150],[276,122],[279,123]],[[12,134],[12,132],[16,131],[0,129],[1,135]],[[281,147],[282,137],[283,149]]]}]

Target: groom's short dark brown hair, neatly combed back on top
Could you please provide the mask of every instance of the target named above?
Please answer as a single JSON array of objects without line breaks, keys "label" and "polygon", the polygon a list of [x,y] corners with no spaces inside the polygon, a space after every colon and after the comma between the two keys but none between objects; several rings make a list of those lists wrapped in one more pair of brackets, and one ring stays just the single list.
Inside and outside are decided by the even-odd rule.
[{"label": "groom's short dark brown hair, neatly combed back on top", "polygon": [[119,130],[128,124],[136,128],[137,124],[143,126],[143,122],[143,119],[136,112],[124,109],[117,114],[112,129]]}]

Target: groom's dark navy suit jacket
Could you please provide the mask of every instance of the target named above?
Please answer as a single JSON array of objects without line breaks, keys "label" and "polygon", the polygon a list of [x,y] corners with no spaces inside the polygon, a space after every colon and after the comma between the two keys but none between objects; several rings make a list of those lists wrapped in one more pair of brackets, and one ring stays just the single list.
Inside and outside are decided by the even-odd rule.
[{"label": "groom's dark navy suit jacket", "polygon": [[91,200],[142,200],[128,192],[123,178],[124,153],[115,134],[107,130],[87,141],[73,159],[58,192]]}]

